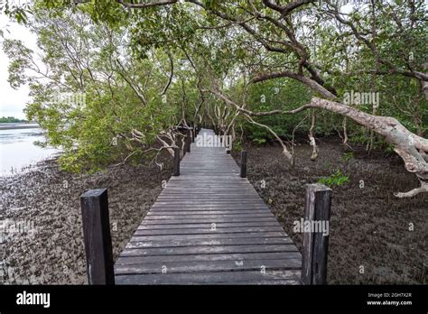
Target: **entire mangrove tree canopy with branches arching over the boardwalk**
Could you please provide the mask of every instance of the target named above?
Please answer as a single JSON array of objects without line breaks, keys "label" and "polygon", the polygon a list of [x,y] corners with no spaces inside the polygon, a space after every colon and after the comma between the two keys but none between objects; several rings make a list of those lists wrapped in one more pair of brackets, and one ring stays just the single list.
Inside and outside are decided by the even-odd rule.
[{"label": "entire mangrove tree canopy with branches arching over the boardwalk", "polygon": [[388,147],[421,182],[396,196],[428,191],[426,5],[342,3],[8,5],[42,51],[6,38],[9,82],[30,85],[28,118],[72,171],[155,158],[180,142],[177,125],[209,125],[237,143],[278,141],[292,163],[296,133],[308,135],[313,160],[326,134]]}]

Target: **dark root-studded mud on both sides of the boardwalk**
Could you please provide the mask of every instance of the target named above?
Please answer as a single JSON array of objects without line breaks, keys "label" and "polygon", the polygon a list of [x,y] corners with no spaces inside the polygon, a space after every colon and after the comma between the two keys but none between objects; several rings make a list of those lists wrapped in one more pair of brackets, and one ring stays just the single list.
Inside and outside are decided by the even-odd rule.
[{"label": "dark root-studded mud on both sides of the boardwalk", "polygon": [[[304,185],[336,169],[349,175],[348,183],[333,188],[328,282],[426,284],[428,196],[395,199],[393,192],[417,186],[400,159],[383,152],[368,156],[359,148],[345,162],[340,145],[330,141],[321,143],[316,162],[309,159],[308,145],[295,150],[291,169],[279,147],[249,146],[248,179],[302,249],[302,234],[293,232],[293,221],[303,217]],[[123,165],[73,175],[51,161],[0,179],[0,222],[9,228],[0,244],[0,282],[87,282],[79,196],[87,189],[108,189],[116,258],[161,192],[162,180],[171,176],[170,159],[163,162],[162,171],[156,165]],[[11,231],[14,225],[18,232]]]}]

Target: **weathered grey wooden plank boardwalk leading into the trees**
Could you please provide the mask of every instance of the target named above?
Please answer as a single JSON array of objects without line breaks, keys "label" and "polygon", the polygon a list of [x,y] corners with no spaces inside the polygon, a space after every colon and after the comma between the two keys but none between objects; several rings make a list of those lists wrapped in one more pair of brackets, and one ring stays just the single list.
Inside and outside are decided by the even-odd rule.
[{"label": "weathered grey wooden plank boardwalk leading into the trees", "polygon": [[115,274],[116,284],[300,284],[301,268],[302,255],[233,158],[192,143]]}]

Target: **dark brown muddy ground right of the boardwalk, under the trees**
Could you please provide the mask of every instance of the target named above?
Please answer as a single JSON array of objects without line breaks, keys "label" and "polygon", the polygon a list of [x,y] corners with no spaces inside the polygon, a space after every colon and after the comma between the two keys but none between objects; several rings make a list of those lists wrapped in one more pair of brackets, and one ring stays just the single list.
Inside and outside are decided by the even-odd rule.
[{"label": "dark brown muddy ground right of the boardwalk, under the trees", "polygon": [[415,176],[395,155],[354,149],[346,161],[339,143],[325,140],[312,162],[312,148],[298,145],[291,169],[279,147],[248,145],[248,179],[302,251],[302,234],[293,232],[293,221],[304,214],[304,185],[339,169],[349,182],[333,188],[328,282],[426,284],[428,195],[396,199],[393,192],[418,186]]}]

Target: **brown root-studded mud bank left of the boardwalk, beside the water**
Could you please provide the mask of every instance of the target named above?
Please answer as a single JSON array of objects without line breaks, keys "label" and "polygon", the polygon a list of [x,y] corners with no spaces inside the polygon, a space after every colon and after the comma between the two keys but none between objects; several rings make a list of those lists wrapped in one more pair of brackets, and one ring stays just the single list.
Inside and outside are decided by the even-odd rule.
[{"label": "brown root-studded mud bank left of the boardwalk, beside the water", "polygon": [[[172,163],[123,165],[93,175],[58,170],[57,162],[0,178],[0,282],[86,283],[80,195],[107,188],[116,259],[172,174]],[[6,226],[6,227],[5,227]],[[2,226],[0,226],[2,227]]]}]

